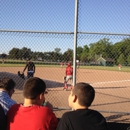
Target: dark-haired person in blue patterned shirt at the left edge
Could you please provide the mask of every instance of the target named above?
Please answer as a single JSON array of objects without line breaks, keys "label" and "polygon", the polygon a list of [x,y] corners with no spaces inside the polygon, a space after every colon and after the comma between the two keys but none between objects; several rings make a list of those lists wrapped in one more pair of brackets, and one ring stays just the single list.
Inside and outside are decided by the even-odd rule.
[{"label": "dark-haired person in blue patterned shirt at the left edge", "polygon": [[12,94],[15,92],[14,88],[15,82],[13,79],[4,77],[0,80],[0,104],[5,114],[12,105],[16,104],[16,102],[11,99]]}]

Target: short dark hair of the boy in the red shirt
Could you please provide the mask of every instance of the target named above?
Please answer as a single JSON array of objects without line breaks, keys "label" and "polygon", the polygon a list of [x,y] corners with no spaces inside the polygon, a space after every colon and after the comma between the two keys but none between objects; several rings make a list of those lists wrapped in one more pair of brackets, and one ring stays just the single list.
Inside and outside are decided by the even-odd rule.
[{"label": "short dark hair of the boy in the red shirt", "polygon": [[45,90],[45,82],[38,77],[32,77],[29,78],[24,84],[23,96],[27,99],[36,99],[36,97],[45,92]]}]

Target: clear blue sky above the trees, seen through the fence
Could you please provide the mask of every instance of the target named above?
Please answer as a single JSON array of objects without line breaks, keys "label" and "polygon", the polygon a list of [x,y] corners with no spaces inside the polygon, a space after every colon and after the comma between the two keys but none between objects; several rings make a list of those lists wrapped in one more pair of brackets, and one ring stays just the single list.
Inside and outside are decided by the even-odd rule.
[{"label": "clear blue sky above the trees, seen through the fence", "polygon": [[[130,0],[79,0],[78,31],[130,34]],[[75,0],[1,0],[0,29],[47,32],[74,32]],[[124,36],[105,36],[111,42]],[[0,32],[0,54],[12,48],[30,48],[33,52],[61,52],[73,49],[71,34]],[[78,46],[104,38],[103,35],[78,37]]]}]

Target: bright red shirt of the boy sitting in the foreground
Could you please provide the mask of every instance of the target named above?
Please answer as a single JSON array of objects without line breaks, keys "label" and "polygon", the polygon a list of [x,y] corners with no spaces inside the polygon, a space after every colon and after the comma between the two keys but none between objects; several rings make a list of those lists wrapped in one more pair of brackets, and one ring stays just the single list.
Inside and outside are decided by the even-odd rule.
[{"label": "bright red shirt of the boy sitting in the foreground", "polygon": [[7,113],[7,130],[56,130],[55,114],[44,106],[13,105]]}]

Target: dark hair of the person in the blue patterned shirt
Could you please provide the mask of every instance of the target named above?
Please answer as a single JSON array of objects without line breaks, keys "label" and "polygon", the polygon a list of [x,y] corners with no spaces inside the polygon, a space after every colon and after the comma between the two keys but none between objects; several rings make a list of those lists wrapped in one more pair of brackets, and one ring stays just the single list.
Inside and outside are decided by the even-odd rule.
[{"label": "dark hair of the person in the blue patterned shirt", "polygon": [[10,91],[15,87],[15,82],[13,79],[10,79],[9,77],[4,77],[0,80],[0,88],[5,89],[6,91]]}]

